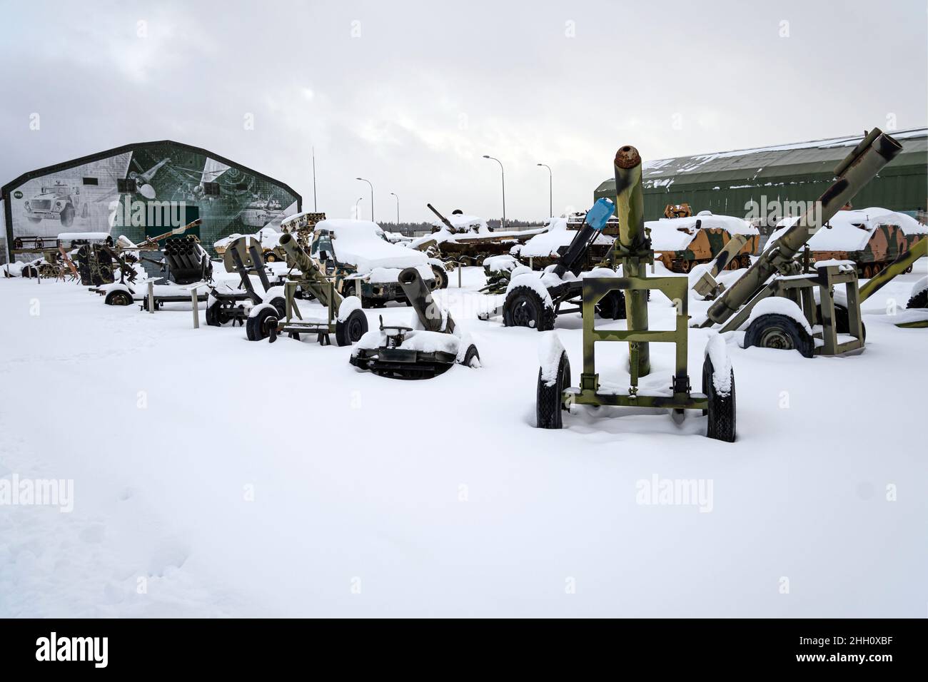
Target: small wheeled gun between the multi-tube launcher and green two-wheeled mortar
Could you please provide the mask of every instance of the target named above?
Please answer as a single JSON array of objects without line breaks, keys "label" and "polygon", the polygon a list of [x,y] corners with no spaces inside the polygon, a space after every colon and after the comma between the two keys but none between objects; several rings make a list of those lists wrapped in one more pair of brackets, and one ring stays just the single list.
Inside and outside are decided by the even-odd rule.
[{"label": "small wheeled gun between the multi-tube launcher and green two-wheeled mortar", "polygon": [[[278,317],[286,315],[284,291],[281,287],[271,285],[264,270],[264,256],[258,248],[259,242],[251,236],[233,239],[223,251],[223,264],[226,272],[235,271],[241,279],[238,290],[229,287],[220,289],[212,287],[209,305],[206,306],[206,324],[222,327],[228,323],[232,326],[245,324],[251,314],[251,308],[269,302],[277,309]],[[258,276],[264,295],[259,294],[251,285],[251,273]]]}]

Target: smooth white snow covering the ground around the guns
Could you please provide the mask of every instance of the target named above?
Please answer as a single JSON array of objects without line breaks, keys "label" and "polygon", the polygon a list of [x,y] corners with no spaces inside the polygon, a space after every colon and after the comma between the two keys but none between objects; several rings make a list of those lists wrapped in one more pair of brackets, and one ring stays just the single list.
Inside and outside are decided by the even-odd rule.
[{"label": "smooth white snow covering the ground around the guns", "polygon": [[[202,310],[195,330],[184,305],[2,280],[0,477],[71,480],[73,510],[0,506],[0,616],[923,617],[928,329],[885,311],[926,263],[866,302],[858,356],[729,338],[735,444],[698,413],[574,407],[533,428],[541,337],[476,319],[479,268],[442,298],[483,368],[427,381]],[[672,310],[655,292],[652,326]],[[579,316],[557,333],[575,382]],[[600,346],[625,385],[627,348]],[[652,344],[649,381],[669,382],[671,351]],[[645,504],[690,480],[698,504]]]}]

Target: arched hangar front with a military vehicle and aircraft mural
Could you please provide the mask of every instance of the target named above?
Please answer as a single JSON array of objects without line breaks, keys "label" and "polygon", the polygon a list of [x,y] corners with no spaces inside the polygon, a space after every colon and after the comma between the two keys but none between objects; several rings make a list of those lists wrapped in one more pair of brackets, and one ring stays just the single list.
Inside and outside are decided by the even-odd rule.
[{"label": "arched hangar front with a military vehicle and aircraft mural", "polygon": [[300,212],[289,186],[180,142],[140,142],[63,161],[3,186],[6,244],[11,258],[54,246],[62,233],[106,232],[138,242],[186,225],[212,251],[233,233],[251,234]]}]

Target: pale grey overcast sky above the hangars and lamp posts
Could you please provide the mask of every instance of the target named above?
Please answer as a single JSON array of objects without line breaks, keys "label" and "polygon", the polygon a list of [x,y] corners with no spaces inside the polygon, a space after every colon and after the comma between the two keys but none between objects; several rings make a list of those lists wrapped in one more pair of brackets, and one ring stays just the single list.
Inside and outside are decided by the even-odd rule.
[{"label": "pale grey overcast sky above the hangars and lamp posts", "polygon": [[[0,2],[0,184],[173,139],[313,208],[586,209],[645,159],[928,124],[924,0]],[[30,130],[38,113],[40,129]],[[246,122],[253,120],[253,129]]]}]

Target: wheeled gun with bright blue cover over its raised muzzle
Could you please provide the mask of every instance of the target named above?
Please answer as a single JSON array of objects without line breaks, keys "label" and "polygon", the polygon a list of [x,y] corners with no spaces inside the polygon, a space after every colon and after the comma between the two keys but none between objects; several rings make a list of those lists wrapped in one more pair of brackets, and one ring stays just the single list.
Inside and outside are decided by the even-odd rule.
[{"label": "wheeled gun with bright blue cover over its raised muzzle", "polygon": [[[586,264],[586,251],[606,226],[613,209],[612,201],[599,199],[586,212],[584,224],[556,263],[548,265],[543,272],[533,271],[524,265],[514,269],[509,277],[506,301],[495,310],[477,316],[487,320],[491,316],[502,315],[506,327],[545,331],[554,328],[558,315],[584,313],[581,301],[584,277],[580,276]],[[596,268],[590,272],[612,273],[608,268]],[[565,304],[574,307],[563,307]],[[621,290],[613,290],[595,307],[601,317],[623,319],[625,294]]]}]

